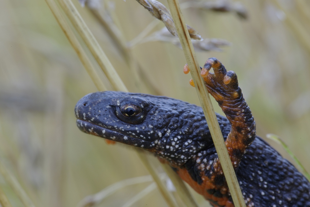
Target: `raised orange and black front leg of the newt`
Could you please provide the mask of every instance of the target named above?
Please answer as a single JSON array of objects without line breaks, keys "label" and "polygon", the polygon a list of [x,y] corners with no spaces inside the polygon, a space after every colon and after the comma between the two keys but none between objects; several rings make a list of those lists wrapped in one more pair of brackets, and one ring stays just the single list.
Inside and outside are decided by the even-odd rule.
[{"label": "raised orange and black front leg of the newt", "polygon": [[[214,73],[209,73],[213,67]],[[243,98],[234,71],[226,71],[216,58],[209,58],[201,69],[208,92],[215,98],[231,124],[225,141],[232,165],[236,170],[243,154],[255,139],[256,127],[251,110]],[[213,163],[220,167],[219,161]],[[221,167],[220,167],[221,168]],[[221,169],[219,169],[221,171]]]}]

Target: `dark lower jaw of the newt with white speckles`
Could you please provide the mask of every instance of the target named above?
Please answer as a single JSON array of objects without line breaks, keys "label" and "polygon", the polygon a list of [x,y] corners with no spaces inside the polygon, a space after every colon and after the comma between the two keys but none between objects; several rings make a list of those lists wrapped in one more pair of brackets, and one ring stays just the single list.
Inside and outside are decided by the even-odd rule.
[{"label": "dark lower jaw of the newt with white speckles", "polygon": [[77,119],[77,126],[78,128],[87,134],[99,136],[108,140],[120,142],[123,144],[128,144],[131,146],[139,147],[139,148],[144,148],[144,149],[151,149],[154,148],[152,145],[152,142],[148,142],[145,140],[133,138],[131,136],[124,135],[122,133],[113,131],[111,129],[98,126],[96,124],[83,121],[81,119]]}]

